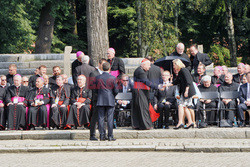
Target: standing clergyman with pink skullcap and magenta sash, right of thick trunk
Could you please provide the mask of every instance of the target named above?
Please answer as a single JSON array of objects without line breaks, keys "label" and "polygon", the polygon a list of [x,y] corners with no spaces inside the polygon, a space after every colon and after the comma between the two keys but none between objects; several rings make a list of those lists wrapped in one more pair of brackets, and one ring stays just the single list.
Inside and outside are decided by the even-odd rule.
[{"label": "standing clergyman with pink skullcap and magenta sash, right of thick trunk", "polygon": [[121,58],[115,57],[115,49],[109,48],[107,51],[108,62],[111,66],[110,74],[116,78],[121,78],[122,74],[125,74],[124,62]]}]

